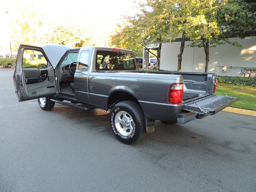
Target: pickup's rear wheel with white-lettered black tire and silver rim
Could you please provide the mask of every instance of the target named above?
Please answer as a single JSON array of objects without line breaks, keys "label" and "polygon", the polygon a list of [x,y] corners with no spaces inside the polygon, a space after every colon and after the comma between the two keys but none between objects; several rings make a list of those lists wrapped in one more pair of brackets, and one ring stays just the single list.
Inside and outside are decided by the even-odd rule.
[{"label": "pickup's rear wheel with white-lettered black tire and silver rim", "polygon": [[116,138],[125,144],[138,142],[146,132],[142,108],[132,101],[114,105],[110,113],[110,125]]}]

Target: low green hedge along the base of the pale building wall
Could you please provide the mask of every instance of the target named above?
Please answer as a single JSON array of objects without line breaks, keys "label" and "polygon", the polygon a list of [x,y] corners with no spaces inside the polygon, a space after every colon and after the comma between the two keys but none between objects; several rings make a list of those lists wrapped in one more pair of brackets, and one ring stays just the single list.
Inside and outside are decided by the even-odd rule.
[{"label": "low green hedge along the base of the pale building wall", "polygon": [[219,76],[218,75],[217,79],[218,79],[218,82],[220,82],[220,83],[256,87],[256,78],[231,77],[231,76]]}]

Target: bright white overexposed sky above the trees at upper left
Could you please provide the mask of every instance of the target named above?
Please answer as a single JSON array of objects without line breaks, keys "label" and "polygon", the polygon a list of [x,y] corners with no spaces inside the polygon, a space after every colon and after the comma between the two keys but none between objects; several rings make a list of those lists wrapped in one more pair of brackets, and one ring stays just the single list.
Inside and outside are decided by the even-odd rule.
[{"label": "bright white overexposed sky above the trees at upper left", "polygon": [[[122,15],[132,16],[136,13],[135,0],[7,0],[0,6],[0,46],[6,45],[9,38],[9,20],[19,12],[18,4],[30,4],[38,13],[44,14],[46,20],[63,22],[71,18],[74,23],[91,25],[110,33],[122,19]],[[8,11],[8,14],[6,13]],[[86,22],[85,22],[86,20]]]}]

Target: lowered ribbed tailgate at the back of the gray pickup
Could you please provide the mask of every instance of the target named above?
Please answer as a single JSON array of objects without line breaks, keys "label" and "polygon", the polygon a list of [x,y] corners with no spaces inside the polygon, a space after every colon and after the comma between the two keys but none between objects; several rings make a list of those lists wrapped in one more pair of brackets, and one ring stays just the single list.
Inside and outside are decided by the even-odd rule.
[{"label": "lowered ribbed tailgate at the back of the gray pickup", "polygon": [[212,95],[183,103],[182,109],[198,114],[213,115],[238,100],[238,97]]}]

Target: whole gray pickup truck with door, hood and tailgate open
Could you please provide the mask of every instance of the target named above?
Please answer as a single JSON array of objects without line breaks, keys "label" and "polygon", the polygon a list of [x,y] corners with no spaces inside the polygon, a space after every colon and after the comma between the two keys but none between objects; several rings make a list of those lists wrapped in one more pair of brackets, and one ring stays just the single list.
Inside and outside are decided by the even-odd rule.
[{"label": "whole gray pickup truck with door, hood and tailgate open", "polygon": [[43,110],[111,110],[111,129],[125,144],[153,132],[155,120],[184,124],[238,100],[214,94],[214,73],[139,71],[132,51],[106,47],[20,45],[14,86],[19,101],[38,99]]}]

